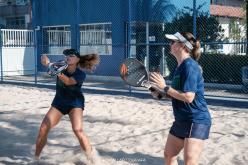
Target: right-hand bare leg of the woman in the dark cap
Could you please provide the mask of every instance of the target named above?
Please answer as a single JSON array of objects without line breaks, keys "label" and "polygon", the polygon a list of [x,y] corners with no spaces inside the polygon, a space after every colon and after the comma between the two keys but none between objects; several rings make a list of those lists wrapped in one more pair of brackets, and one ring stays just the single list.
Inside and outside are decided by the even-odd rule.
[{"label": "right-hand bare leg of the woman in the dark cap", "polygon": [[82,109],[74,108],[69,113],[69,116],[70,116],[73,132],[78,138],[80,146],[85,151],[86,156],[89,156],[91,154],[92,147],[90,145],[88,137],[83,132],[83,126],[82,126],[83,111]]}]

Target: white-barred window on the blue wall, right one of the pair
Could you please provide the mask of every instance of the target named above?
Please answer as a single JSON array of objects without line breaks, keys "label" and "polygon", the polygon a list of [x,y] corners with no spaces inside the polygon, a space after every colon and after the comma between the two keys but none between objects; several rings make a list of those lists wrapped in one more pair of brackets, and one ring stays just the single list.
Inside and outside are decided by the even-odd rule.
[{"label": "white-barred window on the blue wall, right one of the pair", "polygon": [[80,25],[80,53],[112,54],[111,23]]}]

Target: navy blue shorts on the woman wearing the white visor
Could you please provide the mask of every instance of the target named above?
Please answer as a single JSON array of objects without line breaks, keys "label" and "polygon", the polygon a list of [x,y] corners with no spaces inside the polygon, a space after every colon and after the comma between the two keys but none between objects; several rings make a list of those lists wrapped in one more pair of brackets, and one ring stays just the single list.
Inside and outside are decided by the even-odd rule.
[{"label": "navy blue shorts on the woman wearing the white visor", "polygon": [[211,125],[174,122],[170,134],[180,138],[208,139]]}]

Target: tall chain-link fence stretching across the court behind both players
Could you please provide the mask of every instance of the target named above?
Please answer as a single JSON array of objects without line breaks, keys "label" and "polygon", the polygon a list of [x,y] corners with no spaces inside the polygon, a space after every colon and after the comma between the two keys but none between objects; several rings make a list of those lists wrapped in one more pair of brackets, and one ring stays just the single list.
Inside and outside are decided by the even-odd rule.
[{"label": "tall chain-link fence stretching across the court behind both players", "polygon": [[[0,8],[2,11],[10,9],[11,5],[17,6],[16,2],[2,3]],[[164,35],[188,31],[201,41],[202,56],[199,64],[203,69],[206,87],[247,92],[248,48],[246,12],[245,8],[242,9],[244,4],[236,6],[239,10],[228,8],[232,15],[227,18],[211,14],[212,7],[218,7],[218,4],[208,4],[208,1],[193,2],[195,1],[178,8],[178,4],[164,0],[128,1],[125,6],[121,5],[121,1],[115,0],[107,4],[112,6],[112,13],[103,15],[101,20],[96,19],[96,15],[105,13],[107,9],[104,5],[98,6],[102,10],[97,10],[91,16],[85,5],[90,7],[92,4],[75,0],[68,5],[75,10],[67,11],[68,15],[71,14],[69,18],[75,18],[71,20],[73,23],[67,21],[61,24],[56,21],[59,16],[54,16],[56,20],[47,17],[47,22],[51,25],[47,23],[23,32],[32,28],[32,22],[37,20],[33,20],[35,18],[31,16],[32,1],[23,1],[23,4],[18,1],[20,4],[16,11],[21,13],[21,18],[13,12],[9,13],[12,16],[9,19],[9,16],[5,16],[6,12],[5,15],[0,12],[0,18],[6,19],[0,21],[1,81],[31,81],[34,84],[54,82],[54,78],[46,76],[46,69],[39,61],[40,54],[48,54],[52,61],[56,61],[64,58],[64,49],[75,46],[81,54],[97,52],[101,56],[99,68],[95,73],[89,74],[89,86],[101,84],[104,87],[107,83],[112,83],[119,84],[116,85],[117,89],[128,89],[120,83],[118,74],[120,62],[128,57],[137,58],[149,71],[159,71],[166,80],[171,80],[177,64],[170,54],[170,43]],[[50,1],[46,5],[54,9],[50,13],[53,15],[61,7],[57,1]],[[205,8],[209,5],[209,8]],[[122,19],[124,11],[128,15]],[[238,12],[243,12],[243,15],[237,16]],[[80,21],[82,16],[87,17],[87,21]],[[10,74],[14,70],[16,74]],[[28,70],[30,71],[27,72]],[[96,79],[99,82],[92,83]]]}]

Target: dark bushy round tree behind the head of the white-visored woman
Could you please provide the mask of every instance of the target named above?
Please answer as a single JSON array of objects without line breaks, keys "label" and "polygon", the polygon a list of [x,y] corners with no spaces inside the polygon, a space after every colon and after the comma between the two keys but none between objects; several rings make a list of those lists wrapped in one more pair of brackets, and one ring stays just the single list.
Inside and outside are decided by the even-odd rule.
[{"label": "dark bushy round tree behind the head of the white-visored woman", "polygon": [[[209,44],[209,48],[217,49],[219,45],[214,44],[213,41],[224,40],[223,32],[218,20],[215,17],[209,16],[208,13],[197,12],[196,19],[196,34],[197,38],[203,42],[202,46],[205,48],[204,43]],[[177,16],[169,23],[165,24],[164,34],[179,32],[191,32],[193,34],[193,14],[190,11],[181,10],[177,12]],[[169,48],[166,48],[169,50]],[[176,67],[176,60],[169,52],[165,52],[167,55],[167,64],[170,73],[173,72]],[[168,77],[171,78],[171,75]]]}]

